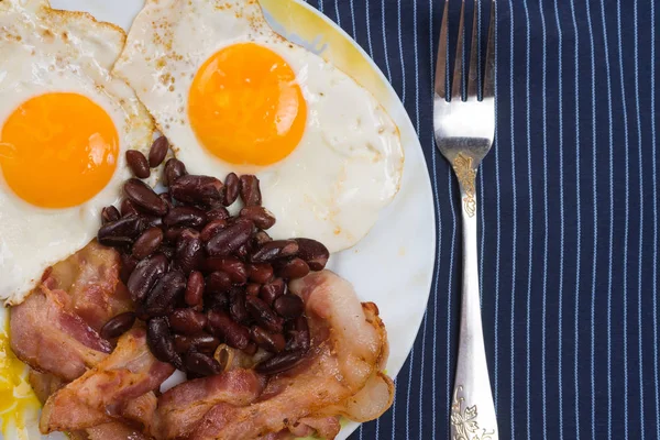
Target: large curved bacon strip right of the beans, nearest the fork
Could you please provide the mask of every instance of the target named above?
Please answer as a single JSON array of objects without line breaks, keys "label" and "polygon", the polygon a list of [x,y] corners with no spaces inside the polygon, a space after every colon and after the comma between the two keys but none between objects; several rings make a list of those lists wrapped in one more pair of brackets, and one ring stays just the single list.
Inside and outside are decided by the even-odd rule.
[{"label": "large curved bacon strip right of the beans, nearest the fork", "polygon": [[[352,286],[329,271],[292,283],[290,290],[302,298],[309,318],[308,359],[272,377],[257,403],[216,405],[191,439],[257,439],[295,430],[323,408],[359,394],[377,372],[387,352],[377,309],[362,307]],[[326,432],[329,438],[336,433]]]}]

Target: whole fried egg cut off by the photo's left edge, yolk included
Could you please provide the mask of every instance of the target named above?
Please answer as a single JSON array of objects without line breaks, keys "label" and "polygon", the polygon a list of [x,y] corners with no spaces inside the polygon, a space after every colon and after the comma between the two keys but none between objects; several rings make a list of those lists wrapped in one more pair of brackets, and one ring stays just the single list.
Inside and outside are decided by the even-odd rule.
[{"label": "whole fried egg cut off by the photo's left edge, yolk included", "polygon": [[45,0],[0,1],[0,300],[96,237],[153,122],[110,76],[125,35]]}]

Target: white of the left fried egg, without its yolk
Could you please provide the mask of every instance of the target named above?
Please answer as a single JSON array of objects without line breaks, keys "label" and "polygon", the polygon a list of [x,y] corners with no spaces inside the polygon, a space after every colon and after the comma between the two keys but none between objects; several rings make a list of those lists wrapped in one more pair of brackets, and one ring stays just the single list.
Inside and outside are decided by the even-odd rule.
[{"label": "white of the left fried egg, without its yolk", "polygon": [[120,141],[110,183],[73,208],[23,201],[0,169],[0,300],[21,302],[45,268],[96,237],[101,209],[118,201],[130,177],[125,151],[148,148],[151,118],[130,87],[110,75],[124,40],[120,29],[88,14],[55,11],[45,0],[0,1],[0,128],[32,97],[76,92],[109,114]]}]

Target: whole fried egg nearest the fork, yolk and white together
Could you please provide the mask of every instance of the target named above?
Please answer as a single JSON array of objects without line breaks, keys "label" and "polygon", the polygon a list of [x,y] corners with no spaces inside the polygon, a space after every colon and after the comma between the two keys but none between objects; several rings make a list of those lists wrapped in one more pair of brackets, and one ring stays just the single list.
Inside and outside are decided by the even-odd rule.
[{"label": "whole fried egg nearest the fork, yolk and white together", "polygon": [[404,154],[389,116],[276,34],[255,0],[147,0],[114,73],[189,173],[258,176],[275,239],[350,248],[398,191]]}]

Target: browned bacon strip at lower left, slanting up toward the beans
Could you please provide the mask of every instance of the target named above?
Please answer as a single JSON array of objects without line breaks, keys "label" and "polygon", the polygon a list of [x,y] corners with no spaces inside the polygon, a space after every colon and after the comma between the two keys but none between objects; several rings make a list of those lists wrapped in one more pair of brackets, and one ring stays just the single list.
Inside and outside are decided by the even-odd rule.
[{"label": "browned bacon strip at lower left, slanting up toward the beans", "polygon": [[152,355],[146,331],[133,328],[108,359],[48,398],[40,429],[80,430],[114,421],[130,400],[158,388],[173,372]]}]

